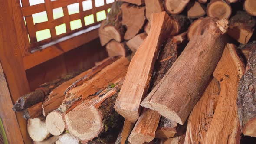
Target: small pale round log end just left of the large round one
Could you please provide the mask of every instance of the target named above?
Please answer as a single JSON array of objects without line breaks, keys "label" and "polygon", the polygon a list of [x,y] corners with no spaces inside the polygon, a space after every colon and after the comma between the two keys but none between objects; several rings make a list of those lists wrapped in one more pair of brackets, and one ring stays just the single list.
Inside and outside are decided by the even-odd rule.
[{"label": "small pale round log end just left of the large round one", "polygon": [[58,136],[65,130],[65,123],[62,118],[62,112],[59,110],[49,113],[49,115],[46,117],[45,123],[47,130],[52,135]]}]

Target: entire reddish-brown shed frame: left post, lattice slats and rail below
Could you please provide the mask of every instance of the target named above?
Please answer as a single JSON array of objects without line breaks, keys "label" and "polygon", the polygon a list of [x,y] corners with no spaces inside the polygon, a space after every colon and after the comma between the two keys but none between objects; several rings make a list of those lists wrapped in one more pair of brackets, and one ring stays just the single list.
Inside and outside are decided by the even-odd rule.
[{"label": "entire reddish-brown shed frame: left post, lattice slats and rail below", "polygon": [[[92,10],[82,11],[81,3],[85,0],[57,0],[53,2],[51,0],[45,0],[45,3],[35,6],[29,6],[29,0],[21,1],[23,2],[23,7],[20,6],[20,0],[0,0],[0,118],[10,144],[30,144],[33,142],[27,133],[26,120],[22,117],[23,114],[12,110],[13,103],[22,95],[30,92],[26,70],[97,39],[97,26],[88,32],[85,29],[93,25],[98,25],[100,21],[96,21],[96,12],[105,10],[105,13],[107,13],[107,9],[112,5],[112,3],[106,4],[106,0],[104,0],[104,6],[95,7],[94,4]],[[92,3],[94,1],[92,0]],[[51,13],[53,5],[54,7],[63,7],[64,13],[67,13],[65,12],[67,11],[66,5],[71,3],[79,3],[79,10],[82,14],[78,13],[64,16],[59,20],[53,20]],[[36,43],[35,37],[33,37],[35,36],[35,31],[33,31],[35,25],[31,24],[33,22],[31,14],[38,13],[42,10],[47,11],[48,21],[36,25],[37,29],[49,28],[52,38]],[[51,16],[49,16],[49,13]],[[75,20],[76,18],[82,19],[88,14],[94,14],[95,23],[85,26],[84,22],[82,22],[82,28],[73,32],[67,29],[68,36],[70,34],[72,36],[67,37],[63,41],[58,41],[60,37],[66,35],[56,36],[53,30],[54,26],[59,23],[68,24],[71,20]],[[23,16],[25,17],[27,26],[25,25]],[[74,34],[81,30],[84,32]],[[27,35],[28,33],[31,35],[31,44]],[[31,39],[31,37],[33,38]],[[53,45],[31,53],[33,46],[54,41],[56,43]]]}]

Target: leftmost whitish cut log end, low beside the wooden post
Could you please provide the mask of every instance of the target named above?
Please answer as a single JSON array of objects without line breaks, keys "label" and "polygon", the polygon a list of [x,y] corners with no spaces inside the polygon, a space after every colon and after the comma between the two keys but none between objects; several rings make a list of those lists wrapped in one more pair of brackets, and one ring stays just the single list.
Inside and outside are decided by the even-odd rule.
[{"label": "leftmost whitish cut log end, low beside the wooden post", "polygon": [[27,131],[33,141],[43,141],[51,136],[46,128],[44,117],[29,119]]}]

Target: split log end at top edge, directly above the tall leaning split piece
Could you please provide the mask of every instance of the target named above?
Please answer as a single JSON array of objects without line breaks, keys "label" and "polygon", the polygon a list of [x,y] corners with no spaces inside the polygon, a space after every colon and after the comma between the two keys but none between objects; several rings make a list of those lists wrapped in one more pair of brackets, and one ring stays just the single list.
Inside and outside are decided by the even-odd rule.
[{"label": "split log end at top edge, directly above the tall leaning split piece", "polygon": [[146,4],[146,18],[151,19],[151,14],[160,13],[164,11],[164,1],[163,0],[145,0]]}]

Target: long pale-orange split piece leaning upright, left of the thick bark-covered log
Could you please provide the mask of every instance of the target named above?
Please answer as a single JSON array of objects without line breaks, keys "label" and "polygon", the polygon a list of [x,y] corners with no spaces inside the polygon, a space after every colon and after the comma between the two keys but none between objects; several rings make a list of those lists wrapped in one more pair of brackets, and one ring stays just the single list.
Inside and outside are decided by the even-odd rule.
[{"label": "long pale-orange split piece leaning upright, left of the thick bark-covered log", "polygon": [[150,33],[131,59],[124,85],[115,102],[115,110],[133,123],[139,117],[140,103],[148,92],[161,43],[174,29],[173,20],[165,12],[152,14],[151,21]]}]

